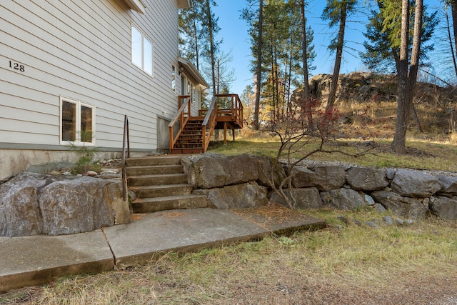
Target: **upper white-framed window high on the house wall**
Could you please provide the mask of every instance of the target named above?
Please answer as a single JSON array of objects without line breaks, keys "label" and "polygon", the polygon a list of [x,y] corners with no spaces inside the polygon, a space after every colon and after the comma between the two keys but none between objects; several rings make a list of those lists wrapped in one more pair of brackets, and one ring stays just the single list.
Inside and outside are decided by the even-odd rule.
[{"label": "upper white-framed window high on the house wall", "polygon": [[131,62],[152,76],[152,42],[134,24],[131,25]]}]

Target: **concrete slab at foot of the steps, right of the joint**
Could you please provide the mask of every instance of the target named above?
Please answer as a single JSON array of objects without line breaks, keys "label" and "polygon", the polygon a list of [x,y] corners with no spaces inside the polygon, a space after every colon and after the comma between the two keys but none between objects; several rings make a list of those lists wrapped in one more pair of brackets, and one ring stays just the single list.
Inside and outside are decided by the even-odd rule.
[{"label": "concrete slab at foot of the steps, right of the joint", "polygon": [[270,233],[228,210],[171,210],[137,216],[131,224],[104,229],[120,268],[144,264],[157,253],[195,251],[261,239]]}]

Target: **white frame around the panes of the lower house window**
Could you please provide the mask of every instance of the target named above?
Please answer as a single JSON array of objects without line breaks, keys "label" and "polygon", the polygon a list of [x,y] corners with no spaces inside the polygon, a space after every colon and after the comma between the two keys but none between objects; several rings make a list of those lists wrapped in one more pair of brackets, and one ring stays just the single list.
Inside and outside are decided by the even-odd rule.
[{"label": "white frame around the panes of the lower house window", "polygon": [[[62,110],[64,109],[64,102],[75,104],[76,105],[76,133],[75,133],[75,141],[64,141],[63,133],[62,133],[62,119],[63,119],[63,114]],[[91,142],[81,142],[81,107],[88,107],[92,109],[92,141]],[[69,145],[69,144],[75,144],[77,146],[95,146],[95,110],[96,107],[91,104],[84,103],[83,101],[79,101],[77,99],[71,99],[65,96],[60,96],[60,121],[59,121],[59,127],[60,127],[60,144],[62,145]]]}]

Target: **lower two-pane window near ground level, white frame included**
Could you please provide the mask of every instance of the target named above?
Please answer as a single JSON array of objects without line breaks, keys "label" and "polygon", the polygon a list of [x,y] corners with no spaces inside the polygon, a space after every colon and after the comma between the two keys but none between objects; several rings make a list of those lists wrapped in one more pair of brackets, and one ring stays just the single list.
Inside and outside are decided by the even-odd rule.
[{"label": "lower two-pane window near ground level, white frame included", "polygon": [[61,96],[61,144],[95,144],[95,106]]}]

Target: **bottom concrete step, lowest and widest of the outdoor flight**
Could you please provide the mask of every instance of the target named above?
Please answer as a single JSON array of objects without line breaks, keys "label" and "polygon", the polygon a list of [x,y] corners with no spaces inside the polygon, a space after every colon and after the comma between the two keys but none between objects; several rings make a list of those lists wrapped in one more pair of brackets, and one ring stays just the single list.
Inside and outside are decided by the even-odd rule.
[{"label": "bottom concrete step, lowest and widest of the outdoor flight", "polygon": [[173,209],[199,209],[208,207],[206,196],[181,195],[137,199],[132,203],[134,213],[152,213]]}]

